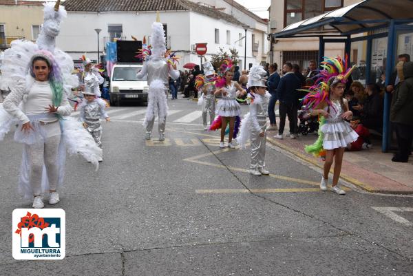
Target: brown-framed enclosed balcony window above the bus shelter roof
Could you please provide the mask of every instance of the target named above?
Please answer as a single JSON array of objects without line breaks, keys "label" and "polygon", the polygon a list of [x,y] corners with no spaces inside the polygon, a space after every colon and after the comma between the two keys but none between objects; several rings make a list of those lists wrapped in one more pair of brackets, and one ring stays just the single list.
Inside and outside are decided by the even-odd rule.
[{"label": "brown-framed enclosed balcony window above the bus shelter roof", "polygon": [[343,7],[343,0],[284,0],[284,26]]}]

